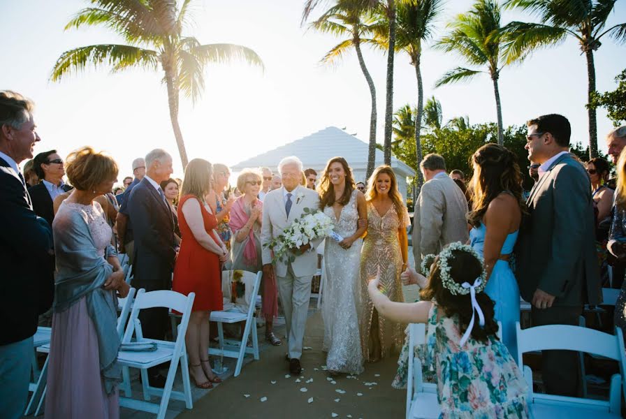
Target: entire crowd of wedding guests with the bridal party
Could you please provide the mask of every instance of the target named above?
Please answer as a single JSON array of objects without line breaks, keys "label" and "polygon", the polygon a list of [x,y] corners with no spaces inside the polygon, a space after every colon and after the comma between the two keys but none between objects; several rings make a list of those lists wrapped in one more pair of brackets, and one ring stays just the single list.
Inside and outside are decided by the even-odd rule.
[{"label": "entire crowd of wedding guests with the bridal party", "polygon": [[[438,391],[456,389],[451,398],[439,395],[442,411],[451,416],[465,409],[470,392],[451,374],[451,360],[471,351],[472,383],[493,376],[507,381],[497,401],[492,390],[481,387],[475,410],[525,417],[527,388],[511,357],[517,355],[520,295],[531,304],[532,325],[578,325],[583,306],[601,302],[599,267],[604,263],[609,269],[607,251],[616,264],[626,261],[626,126],[606,137],[617,163],[614,192],[606,160],[583,166],[569,153],[571,129],[562,115],[527,122],[525,149],[535,182],[527,194],[516,154],[506,147],[486,144],[476,150],[467,185],[460,170],[446,173],[442,156],[424,156],[419,169],[425,183],[414,201],[414,269],[409,213],[390,166],[376,168],[366,187],[354,181],[349,161],[337,156],[316,185],[317,172],[303,170],[302,161],[289,156],[278,162],[277,175],[267,167],[242,170],[231,189],[226,165],[193,159],[180,182],[171,177],[172,156],[153,149],[133,161],[133,178],[125,177],[124,192],[115,196],[117,163],[91,147],[65,160],[55,150],[40,153],[22,176],[17,165],[32,159],[40,140],[33,107],[15,92],[0,91],[0,211],[15,221],[6,223],[0,244],[3,266],[15,279],[10,286],[0,284],[0,310],[8,319],[0,340],[0,405],[9,418],[24,411],[32,336],[38,316],[52,305],[53,284],[45,415],[119,416],[116,296],[125,297],[129,284],[118,251],[131,260],[134,288],[196,294],[184,339],[198,388],[221,383],[208,350],[210,313],[224,308],[223,270],[263,272],[265,338],[282,344],[275,331],[280,296],[286,369],[300,374],[312,277],[324,237],[291,249],[287,258],[276,258],[270,246],[293,221],[319,210],[334,226],[323,244],[322,349],[329,374],[361,374],[365,362],[402,348],[393,382],[402,388],[409,360],[409,348],[402,346],[405,323],[427,323],[427,363],[436,372],[433,379],[440,380]],[[29,188],[27,181],[34,179],[39,183]],[[616,272],[623,277],[616,269],[613,277]],[[623,278],[617,280],[623,284]],[[418,285],[421,301],[405,304],[402,284]],[[625,306],[623,289],[615,312],[622,328]],[[167,338],[167,309],[143,309],[139,318],[144,337]],[[547,392],[578,394],[576,353],[544,351],[541,362]],[[149,369],[150,385],[163,387],[165,380],[159,367]]]}]

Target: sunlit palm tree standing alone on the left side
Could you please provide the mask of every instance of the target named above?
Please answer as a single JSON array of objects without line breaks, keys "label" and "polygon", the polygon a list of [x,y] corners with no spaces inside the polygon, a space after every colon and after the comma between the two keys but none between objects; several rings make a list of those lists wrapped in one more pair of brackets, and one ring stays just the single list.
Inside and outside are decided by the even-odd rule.
[{"label": "sunlit palm tree standing alone on the left side", "polygon": [[[241,59],[263,68],[253,50],[242,45],[202,45],[192,36],[183,36],[189,20],[191,0],[90,0],[93,7],[80,10],[65,29],[101,25],[121,35],[126,45],[101,44],[78,47],[61,54],[50,79],[54,82],[88,64],[112,66],[112,71],[131,67],[163,70],[168,92],[170,119],[182,166],[187,166],[182,133],[178,124],[180,92],[194,103],[204,89],[204,69],[208,63],[226,63]],[[151,48],[151,49],[150,49]]]}]

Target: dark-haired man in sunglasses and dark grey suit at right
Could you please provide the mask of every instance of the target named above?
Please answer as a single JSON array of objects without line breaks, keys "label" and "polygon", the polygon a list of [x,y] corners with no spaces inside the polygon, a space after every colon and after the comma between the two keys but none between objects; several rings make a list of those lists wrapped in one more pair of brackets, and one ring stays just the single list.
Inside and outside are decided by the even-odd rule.
[{"label": "dark-haired man in sunglasses and dark grey suit at right", "polygon": [[[533,326],[578,325],[583,304],[602,298],[590,180],[569,154],[571,128],[565,117],[543,115],[527,126],[528,159],[541,166],[516,247],[520,293],[532,304]],[[542,362],[548,393],[577,394],[575,352],[544,351]]]}]

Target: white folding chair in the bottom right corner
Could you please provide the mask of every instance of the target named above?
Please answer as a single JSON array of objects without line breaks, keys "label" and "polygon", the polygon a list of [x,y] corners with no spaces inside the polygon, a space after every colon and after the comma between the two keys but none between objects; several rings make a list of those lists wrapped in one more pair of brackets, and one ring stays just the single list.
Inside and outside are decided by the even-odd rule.
[{"label": "white folding chair in the bottom right corner", "polygon": [[618,362],[621,374],[613,374],[609,401],[544,395],[532,390],[532,371],[524,365],[524,378],[528,385],[528,407],[532,417],[541,418],[620,418],[622,378],[625,376],[626,356],[622,330],[616,335],[571,325],[546,325],[522,330],[517,328],[518,365],[523,353],[545,350],[569,350],[595,353]]}]

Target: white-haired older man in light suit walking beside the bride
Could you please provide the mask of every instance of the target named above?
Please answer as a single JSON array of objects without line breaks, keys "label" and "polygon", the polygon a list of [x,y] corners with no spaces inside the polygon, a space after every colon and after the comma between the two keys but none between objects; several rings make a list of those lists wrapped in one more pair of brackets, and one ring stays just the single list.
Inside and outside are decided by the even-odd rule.
[{"label": "white-haired older man in light suit walking beside the bride", "polygon": [[300,186],[303,176],[302,162],[296,156],[286,157],[278,163],[282,187],[268,192],[263,200],[263,281],[276,279],[282,307],[285,312],[287,340],[289,343],[289,371],[300,374],[300,357],[307,324],[311,297],[311,279],[317,270],[317,247],[322,238],[295,249],[292,262],[277,260],[272,263],[272,249],[266,245],[278,237],[285,228],[304,214],[305,208],[319,210],[319,195],[312,189]]}]

